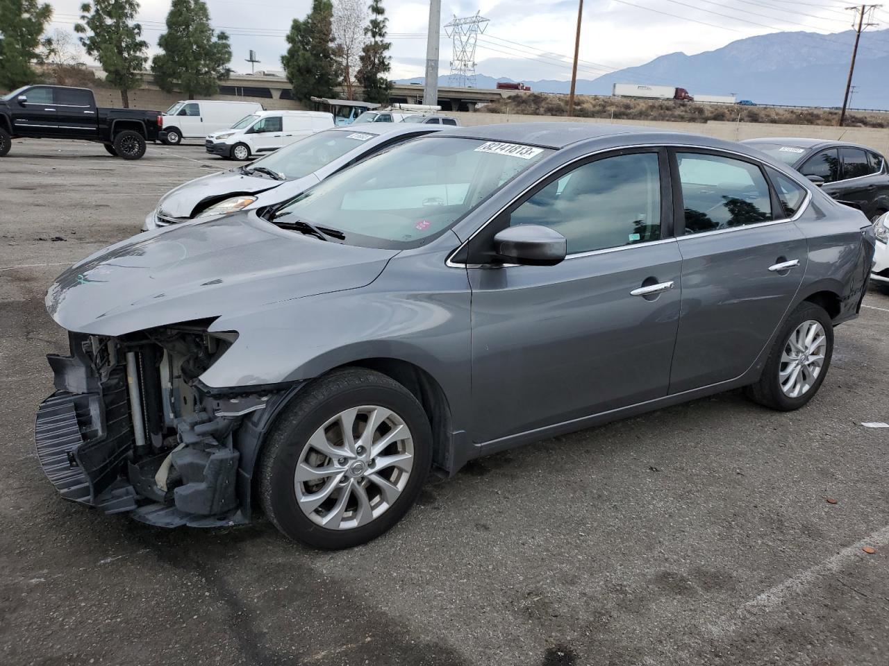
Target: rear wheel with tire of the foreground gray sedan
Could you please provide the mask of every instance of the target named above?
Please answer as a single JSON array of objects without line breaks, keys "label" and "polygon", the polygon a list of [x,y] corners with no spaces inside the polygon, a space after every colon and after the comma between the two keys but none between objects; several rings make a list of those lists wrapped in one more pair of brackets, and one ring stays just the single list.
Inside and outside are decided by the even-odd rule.
[{"label": "rear wheel with tire of the foreground gray sedan", "polygon": [[[804,327],[808,328],[804,329]],[[814,353],[804,358],[817,359],[818,356],[821,356],[821,366],[817,366],[817,361],[813,361],[811,364],[805,361],[797,364],[797,377],[799,377],[800,384],[791,385],[794,361],[787,361],[787,359],[793,359],[798,355],[794,342],[797,340],[797,330],[802,331],[803,337],[799,339],[805,343],[805,333],[812,329],[815,330],[813,339],[823,336],[823,342],[814,350]],[[806,402],[812,400],[815,393],[821,388],[824,377],[827,377],[830,359],[833,357],[833,343],[833,321],[830,321],[830,315],[825,312],[824,308],[808,301],[797,305],[797,308],[781,325],[772,351],[769,353],[768,360],[765,361],[763,374],[756,384],[747,387],[747,396],[760,405],[779,411],[792,411],[803,407]],[[813,368],[816,367],[818,368],[817,372],[813,373]],[[785,375],[784,379],[785,386],[790,387],[789,391],[782,388],[781,372],[789,372],[789,375]],[[815,377],[812,379],[813,374]],[[807,385],[807,388],[796,392],[797,388],[801,388],[802,385]]]}]

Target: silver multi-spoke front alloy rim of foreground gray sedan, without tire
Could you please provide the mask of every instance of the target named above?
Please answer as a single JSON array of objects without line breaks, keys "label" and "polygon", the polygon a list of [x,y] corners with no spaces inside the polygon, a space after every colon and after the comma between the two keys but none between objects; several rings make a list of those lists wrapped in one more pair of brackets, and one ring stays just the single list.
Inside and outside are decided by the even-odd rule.
[{"label": "silver multi-spoke front alloy rim of foreground gray sedan, without tire", "polygon": [[318,428],[300,453],[293,474],[300,510],[328,529],[366,525],[401,496],[413,457],[401,416],[376,405],[346,409]]}]

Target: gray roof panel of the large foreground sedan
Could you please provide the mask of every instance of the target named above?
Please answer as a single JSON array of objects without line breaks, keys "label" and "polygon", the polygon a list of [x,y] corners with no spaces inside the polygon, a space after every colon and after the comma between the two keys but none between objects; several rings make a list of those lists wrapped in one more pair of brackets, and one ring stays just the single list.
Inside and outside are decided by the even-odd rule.
[{"label": "gray roof panel of the large foreground sedan", "polygon": [[501,123],[453,128],[445,130],[442,135],[559,149],[578,141],[613,137],[620,134],[662,134],[665,139],[689,136],[684,132],[661,131],[653,127],[610,123]]}]

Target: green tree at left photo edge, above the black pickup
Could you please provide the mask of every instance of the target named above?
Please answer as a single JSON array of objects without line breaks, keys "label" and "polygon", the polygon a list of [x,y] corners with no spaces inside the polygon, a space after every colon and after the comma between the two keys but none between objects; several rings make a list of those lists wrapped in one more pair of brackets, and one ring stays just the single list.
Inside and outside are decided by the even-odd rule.
[{"label": "green tree at left photo edge, above the black pickup", "polygon": [[34,83],[31,62],[42,59],[48,46],[41,40],[46,23],[52,19],[49,4],[37,0],[0,0],[0,88],[14,90]]}]

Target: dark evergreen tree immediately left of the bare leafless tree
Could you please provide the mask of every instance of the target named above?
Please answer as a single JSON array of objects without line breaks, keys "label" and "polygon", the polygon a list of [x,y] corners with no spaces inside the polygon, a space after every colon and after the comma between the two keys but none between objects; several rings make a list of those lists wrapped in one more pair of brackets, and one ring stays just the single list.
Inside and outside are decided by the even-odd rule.
[{"label": "dark evergreen tree immediately left of the bare leafless tree", "polygon": [[281,64],[293,89],[293,98],[308,102],[316,97],[336,97],[334,90],[340,83],[337,61],[334,58],[331,20],[333,4],[330,0],[312,0],[312,11],[305,20],[293,19],[287,35],[287,52]]}]

